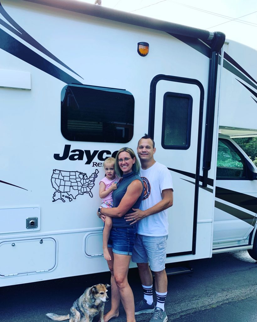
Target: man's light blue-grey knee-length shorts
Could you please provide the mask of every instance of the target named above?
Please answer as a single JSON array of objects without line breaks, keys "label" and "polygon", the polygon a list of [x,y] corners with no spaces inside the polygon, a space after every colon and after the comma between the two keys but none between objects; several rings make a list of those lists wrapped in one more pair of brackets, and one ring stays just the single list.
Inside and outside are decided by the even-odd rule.
[{"label": "man's light blue-grey knee-length shorts", "polygon": [[150,269],[153,272],[164,270],[167,238],[168,235],[152,237],[137,234],[131,260],[134,263],[149,262]]}]

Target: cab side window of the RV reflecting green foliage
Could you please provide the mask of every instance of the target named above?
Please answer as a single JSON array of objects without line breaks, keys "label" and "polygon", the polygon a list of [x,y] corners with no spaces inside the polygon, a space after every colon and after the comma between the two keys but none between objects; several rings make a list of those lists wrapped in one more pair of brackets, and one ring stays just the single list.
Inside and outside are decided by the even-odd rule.
[{"label": "cab side window of the RV reflecting green foliage", "polygon": [[218,140],[217,179],[246,177],[244,156],[229,140]]}]

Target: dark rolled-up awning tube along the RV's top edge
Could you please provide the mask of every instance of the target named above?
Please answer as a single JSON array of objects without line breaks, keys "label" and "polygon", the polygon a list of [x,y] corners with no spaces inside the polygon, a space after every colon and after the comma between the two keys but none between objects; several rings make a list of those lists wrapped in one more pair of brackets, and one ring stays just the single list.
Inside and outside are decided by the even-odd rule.
[{"label": "dark rolled-up awning tube along the RV's top edge", "polygon": [[145,17],[142,15],[131,14],[120,10],[115,10],[100,5],[88,4],[79,0],[25,0],[41,5],[88,14],[91,16],[132,24],[140,27],[156,29],[167,33],[199,38],[203,41],[212,41],[214,33],[208,30],[193,28],[182,24]]}]

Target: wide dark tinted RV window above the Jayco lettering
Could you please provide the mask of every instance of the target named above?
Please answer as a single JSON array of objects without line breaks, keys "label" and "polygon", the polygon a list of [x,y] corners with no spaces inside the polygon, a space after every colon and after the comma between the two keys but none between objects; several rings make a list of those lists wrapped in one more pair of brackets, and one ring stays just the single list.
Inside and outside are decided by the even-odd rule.
[{"label": "wide dark tinted RV window above the Jayco lettering", "polygon": [[127,143],[134,131],[133,95],[127,90],[66,85],[61,91],[61,132],[70,141]]}]

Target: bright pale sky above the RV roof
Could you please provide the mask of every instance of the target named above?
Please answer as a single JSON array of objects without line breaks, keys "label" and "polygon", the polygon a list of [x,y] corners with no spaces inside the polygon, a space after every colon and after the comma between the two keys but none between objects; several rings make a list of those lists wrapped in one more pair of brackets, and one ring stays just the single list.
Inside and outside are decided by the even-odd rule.
[{"label": "bright pale sky above the RV roof", "polygon": [[[84,0],[94,3],[94,0]],[[102,6],[177,24],[221,31],[257,50],[256,0],[102,0]]]}]

